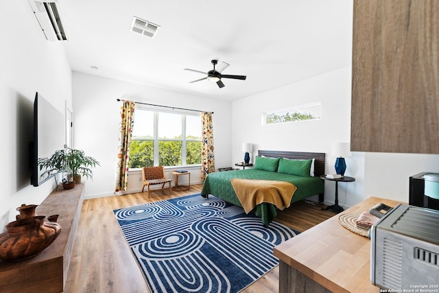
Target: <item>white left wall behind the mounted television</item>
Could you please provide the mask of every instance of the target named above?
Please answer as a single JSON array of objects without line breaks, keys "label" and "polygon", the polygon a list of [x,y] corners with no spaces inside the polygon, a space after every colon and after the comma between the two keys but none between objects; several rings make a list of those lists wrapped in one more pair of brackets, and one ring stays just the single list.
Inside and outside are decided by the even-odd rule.
[{"label": "white left wall behind the mounted television", "polygon": [[40,187],[30,185],[28,146],[33,134],[33,103],[38,91],[64,113],[65,101],[71,104],[71,69],[64,45],[46,40],[27,1],[4,2],[0,19],[3,231],[5,224],[15,220],[16,207],[40,204],[55,187],[54,179]]}]

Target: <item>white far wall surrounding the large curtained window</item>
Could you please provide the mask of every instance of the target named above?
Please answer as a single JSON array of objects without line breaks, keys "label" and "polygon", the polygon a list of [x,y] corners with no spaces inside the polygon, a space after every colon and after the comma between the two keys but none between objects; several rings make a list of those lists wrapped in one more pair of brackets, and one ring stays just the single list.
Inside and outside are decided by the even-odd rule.
[{"label": "white far wall surrounding the large curtained window", "polygon": [[[213,111],[215,166],[229,165],[231,102],[73,72],[74,146],[101,163],[93,169],[93,181],[88,180],[85,185],[86,198],[114,194],[121,107],[116,99]],[[167,177],[174,179],[169,174],[171,170],[167,169]],[[179,183],[185,183],[184,177],[180,176]],[[140,191],[141,172],[130,172],[128,178],[129,192]],[[191,183],[201,183],[200,168],[191,169]]]}]

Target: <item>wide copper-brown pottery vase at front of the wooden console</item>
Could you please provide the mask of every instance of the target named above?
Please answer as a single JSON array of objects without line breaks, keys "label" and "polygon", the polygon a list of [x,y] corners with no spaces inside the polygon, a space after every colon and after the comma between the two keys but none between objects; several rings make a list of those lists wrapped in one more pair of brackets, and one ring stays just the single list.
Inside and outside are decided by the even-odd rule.
[{"label": "wide copper-brown pottery vase at front of the wooden console", "polygon": [[41,253],[61,232],[56,222],[45,222],[44,215],[16,220],[0,234],[0,259],[21,261]]}]

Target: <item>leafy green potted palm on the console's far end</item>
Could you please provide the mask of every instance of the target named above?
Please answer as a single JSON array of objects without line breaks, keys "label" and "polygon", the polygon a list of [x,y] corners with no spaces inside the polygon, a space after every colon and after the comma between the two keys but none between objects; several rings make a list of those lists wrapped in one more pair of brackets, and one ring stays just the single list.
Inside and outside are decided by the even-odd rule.
[{"label": "leafy green potted palm on the console's far end", "polygon": [[57,150],[49,158],[38,159],[38,165],[40,170],[45,169],[43,176],[50,176],[69,168],[75,183],[80,183],[81,176],[93,179],[91,168],[99,166],[99,162],[91,156],[86,156],[83,150],[65,147],[64,150]]}]

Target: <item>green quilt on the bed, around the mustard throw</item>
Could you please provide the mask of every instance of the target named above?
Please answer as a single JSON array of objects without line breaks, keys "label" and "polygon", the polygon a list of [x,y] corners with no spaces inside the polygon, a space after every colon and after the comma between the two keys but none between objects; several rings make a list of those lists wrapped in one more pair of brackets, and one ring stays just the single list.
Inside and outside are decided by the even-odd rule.
[{"label": "green quilt on the bed, around the mustard throw", "polygon": [[[291,202],[296,202],[316,194],[323,194],[324,192],[323,181],[319,177],[301,177],[259,169],[245,169],[209,174],[206,177],[206,180],[204,180],[201,195],[204,198],[207,198],[209,194],[212,194],[217,198],[222,198],[227,202],[241,207],[241,203],[230,183],[230,179],[232,178],[278,180],[292,183],[296,185],[297,190],[294,193]],[[258,217],[262,218],[262,222],[265,226],[268,226],[277,215],[276,207],[274,207],[273,204],[266,202],[259,204],[253,209],[253,211]]]}]

